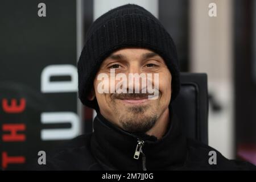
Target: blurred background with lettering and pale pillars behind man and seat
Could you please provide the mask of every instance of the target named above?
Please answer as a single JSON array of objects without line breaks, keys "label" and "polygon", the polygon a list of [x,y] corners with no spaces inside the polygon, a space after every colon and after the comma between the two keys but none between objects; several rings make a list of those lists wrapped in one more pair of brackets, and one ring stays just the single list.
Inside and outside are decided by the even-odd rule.
[{"label": "blurred background with lettering and pale pillars behind man and seat", "polygon": [[92,131],[93,110],[77,96],[88,27],[126,3],[162,22],[177,46],[180,71],[208,75],[209,146],[256,164],[256,1],[77,0],[0,2],[0,164],[23,169]]}]

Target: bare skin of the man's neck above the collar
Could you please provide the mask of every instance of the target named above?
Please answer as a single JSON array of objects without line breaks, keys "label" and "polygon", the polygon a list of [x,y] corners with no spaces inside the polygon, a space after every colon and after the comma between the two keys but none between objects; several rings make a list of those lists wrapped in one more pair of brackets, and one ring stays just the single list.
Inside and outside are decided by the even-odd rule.
[{"label": "bare skin of the man's neck above the collar", "polygon": [[156,138],[161,139],[166,134],[168,123],[169,123],[169,109],[166,110],[158,118],[154,127],[146,132],[147,135],[154,135]]}]

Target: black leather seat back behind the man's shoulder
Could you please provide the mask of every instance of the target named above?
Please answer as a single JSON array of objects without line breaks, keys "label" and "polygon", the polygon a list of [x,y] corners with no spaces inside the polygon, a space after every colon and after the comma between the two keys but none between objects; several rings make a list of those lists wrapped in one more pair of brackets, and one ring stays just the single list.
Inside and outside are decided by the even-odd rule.
[{"label": "black leather seat back behind the man's shoulder", "polygon": [[187,137],[208,144],[207,74],[180,73],[181,88],[172,108]]}]

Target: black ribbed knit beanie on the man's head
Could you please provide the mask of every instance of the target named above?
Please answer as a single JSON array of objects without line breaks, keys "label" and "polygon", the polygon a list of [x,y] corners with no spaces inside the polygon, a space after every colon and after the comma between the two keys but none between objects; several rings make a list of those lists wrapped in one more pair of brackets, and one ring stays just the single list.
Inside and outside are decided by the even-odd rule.
[{"label": "black ribbed knit beanie on the man's head", "polygon": [[82,104],[98,110],[96,98],[87,96],[93,81],[106,57],[120,48],[148,48],[158,53],[172,75],[173,101],[180,90],[179,64],[174,41],[157,18],[138,5],[123,5],[101,15],[86,33],[77,70],[79,75],[79,98]]}]

